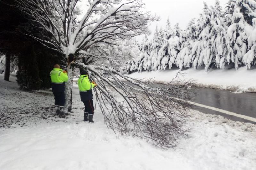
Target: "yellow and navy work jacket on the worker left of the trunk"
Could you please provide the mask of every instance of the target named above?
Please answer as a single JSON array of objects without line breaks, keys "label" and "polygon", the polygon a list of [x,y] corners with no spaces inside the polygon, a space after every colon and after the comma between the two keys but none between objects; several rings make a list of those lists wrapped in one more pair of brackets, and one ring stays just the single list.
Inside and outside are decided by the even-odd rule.
[{"label": "yellow and navy work jacket on the worker left of the trunk", "polygon": [[64,92],[65,82],[67,81],[68,75],[62,69],[54,68],[51,71],[52,92]]}]

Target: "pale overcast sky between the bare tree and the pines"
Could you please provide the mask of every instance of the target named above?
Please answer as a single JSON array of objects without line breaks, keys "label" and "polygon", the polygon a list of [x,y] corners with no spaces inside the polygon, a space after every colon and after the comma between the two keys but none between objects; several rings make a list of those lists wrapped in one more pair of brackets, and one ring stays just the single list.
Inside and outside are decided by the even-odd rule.
[{"label": "pale overcast sky between the bare tree and the pines", "polygon": [[[208,6],[213,6],[215,3],[215,0],[143,0],[146,4],[146,10],[161,18],[160,21],[151,23],[150,30],[154,33],[156,25],[158,28],[161,26],[164,28],[168,17],[172,27],[178,22],[180,28],[185,29],[192,18],[198,18],[199,14],[202,13],[203,1]],[[227,2],[228,0],[220,0],[223,8]]]}]

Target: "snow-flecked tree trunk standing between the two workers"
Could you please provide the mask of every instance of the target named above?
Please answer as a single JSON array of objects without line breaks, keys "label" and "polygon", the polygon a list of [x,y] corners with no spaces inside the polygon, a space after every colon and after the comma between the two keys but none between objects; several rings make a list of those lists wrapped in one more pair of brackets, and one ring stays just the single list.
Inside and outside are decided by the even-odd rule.
[{"label": "snow-flecked tree trunk standing between the two workers", "polygon": [[65,110],[68,112],[72,111],[72,89],[73,89],[73,76],[74,76],[74,67],[69,64],[67,67],[68,71],[68,82],[65,84]]}]

